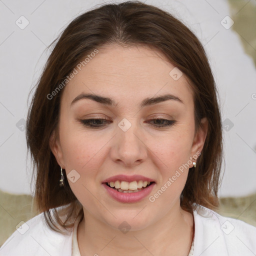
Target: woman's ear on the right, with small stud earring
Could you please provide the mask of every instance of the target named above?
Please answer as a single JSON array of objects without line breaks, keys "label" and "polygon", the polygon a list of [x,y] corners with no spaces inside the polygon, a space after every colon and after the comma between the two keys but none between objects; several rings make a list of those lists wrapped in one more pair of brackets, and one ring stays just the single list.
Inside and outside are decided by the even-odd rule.
[{"label": "woman's ear on the right, with small stud earring", "polygon": [[[207,131],[208,131],[208,120],[206,117],[201,119],[201,126],[202,127],[200,127],[200,126],[198,127],[198,130],[197,130],[196,134],[194,135],[194,139],[193,139],[193,143],[192,143],[192,147],[191,147],[191,157],[194,154],[198,155],[198,154],[196,154],[196,152],[202,151],[202,148],[203,148],[203,145],[205,142],[205,138],[207,135]],[[196,159],[195,159],[195,161],[196,161]],[[192,166],[193,165],[191,165],[189,167],[191,168]]]}]

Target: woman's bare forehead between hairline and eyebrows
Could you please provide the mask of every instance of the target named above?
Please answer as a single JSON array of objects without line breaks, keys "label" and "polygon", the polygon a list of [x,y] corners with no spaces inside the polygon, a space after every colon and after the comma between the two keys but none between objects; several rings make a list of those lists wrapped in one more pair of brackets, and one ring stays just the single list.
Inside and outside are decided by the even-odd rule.
[{"label": "woman's bare forehead between hairline and eyebrows", "polygon": [[160,51],[149,47],[108,45],[83,65],[80,70],[76,67],[77,74],[64,88],[62,97],[69,104],[81,92],[133,101],[172,93],[187,103],[192,100],[185,75],[174,80],[169,74],[174,66]]}]

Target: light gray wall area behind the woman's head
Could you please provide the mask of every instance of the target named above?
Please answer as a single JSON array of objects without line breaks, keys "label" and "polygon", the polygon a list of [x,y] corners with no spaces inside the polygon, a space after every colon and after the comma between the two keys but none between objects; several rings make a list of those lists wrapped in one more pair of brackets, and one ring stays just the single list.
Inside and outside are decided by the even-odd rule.
[{"label": "light gray wall area behind the woman's head", "polygon": [[[252,2],[256,4],[255,0]],[[103,0],[0,0],[1,190],[32,194],[22,119],[26,119],[31,100],[28,93],[50,53],[45,51],[46,46],[74,17],[103,3]],[[219,196],[255,192],[256,70],[239,36],[221,24],[226,15],[230,16],[227,1],[146,0],[145,3],[161,7],[183,21],[201,40],[210,59],[221,97],[222,121],[226,125],[228,118],[233,123],[231,129],[229,126],[225,130],[226,126],[223,130],[225,174]],[[22,15],[29,21],[24,29],[15,23]]]}]

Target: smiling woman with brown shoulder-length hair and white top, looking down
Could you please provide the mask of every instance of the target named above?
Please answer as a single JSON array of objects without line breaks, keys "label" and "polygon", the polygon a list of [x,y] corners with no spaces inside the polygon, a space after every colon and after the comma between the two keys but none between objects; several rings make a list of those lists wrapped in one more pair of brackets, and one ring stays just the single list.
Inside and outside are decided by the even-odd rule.
[{"label": "smiling woman with brown shoulder-length hair and white top, looking down", "polygon": [[256,227],[214,211],[217,89],[202,45],[169,13],[124,2],[75,18],[26,128],[40,214],[0,255],[256,253]]}]

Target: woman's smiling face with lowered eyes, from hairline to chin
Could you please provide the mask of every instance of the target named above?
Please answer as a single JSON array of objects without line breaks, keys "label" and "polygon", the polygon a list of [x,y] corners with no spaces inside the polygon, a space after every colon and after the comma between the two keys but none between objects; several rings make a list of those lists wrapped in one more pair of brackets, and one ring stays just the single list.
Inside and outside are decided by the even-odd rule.
[{"label": "woman's smiling face with lowered eyes, from hairline to chin", "polygon": [[[202,150],[207,122],[194,134],[188,80],[158,51],[110,45],[80,66],[64,87],[59,136],[50,143],[51,150],[85,216],[114,228],[121,228],[123,221],[134,230],[145,228],[180,207],[179,196],[191,159]],[[77,99],[81,94],[113,103],[99,97]],[[150,99],[165,94],[173,96]],[[170,120],[170,125],[155,118]],[[139,180],[154,182],[145,190],[125,193],[104,183],[111,177],[117,188],[120,181],[122,190],[128,185],[136,189]]]}]

